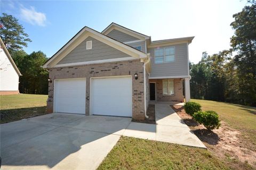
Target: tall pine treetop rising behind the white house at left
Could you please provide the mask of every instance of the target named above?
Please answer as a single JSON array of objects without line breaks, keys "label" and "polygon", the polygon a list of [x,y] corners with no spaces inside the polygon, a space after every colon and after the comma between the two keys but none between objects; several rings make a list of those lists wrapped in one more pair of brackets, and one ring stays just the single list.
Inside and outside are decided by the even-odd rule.
[{"label": "tall pine treetop rising behind the white house at left", "polygon": [[0,16],[0,23],[0,37],[10,53],[22,49],[22,46],[27,47],[27,42],[31,42],[23,26],[14,16],[3,13]]}]

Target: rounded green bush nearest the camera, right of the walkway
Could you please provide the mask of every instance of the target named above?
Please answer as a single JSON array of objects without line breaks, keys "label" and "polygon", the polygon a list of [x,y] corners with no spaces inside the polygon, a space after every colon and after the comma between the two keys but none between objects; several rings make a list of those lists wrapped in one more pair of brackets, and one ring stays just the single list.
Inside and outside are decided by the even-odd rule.
[{"label": "rounded green bush nearest the camera, right of the walkway", "polygon": [[199,111],[193,115],[193,118],[208,130],[219,129],[220,127],[219,115],[214,111]]}]

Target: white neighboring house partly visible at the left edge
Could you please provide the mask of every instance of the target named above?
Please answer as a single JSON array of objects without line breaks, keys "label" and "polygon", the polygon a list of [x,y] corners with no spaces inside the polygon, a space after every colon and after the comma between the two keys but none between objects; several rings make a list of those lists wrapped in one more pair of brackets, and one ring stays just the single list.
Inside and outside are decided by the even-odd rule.
[{"label": "white neighboring house partly visible at the left edge", "polygon": [[0,95],[19,94],[19,69],[0,38]]}]

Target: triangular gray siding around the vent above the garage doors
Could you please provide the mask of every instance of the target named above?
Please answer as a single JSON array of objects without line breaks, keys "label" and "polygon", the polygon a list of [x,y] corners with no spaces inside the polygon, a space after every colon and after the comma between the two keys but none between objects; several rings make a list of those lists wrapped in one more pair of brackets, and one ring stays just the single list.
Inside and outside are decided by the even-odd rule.
[{"label": "triangular gray siding around the vent above the garage doors", "polygon": [[[86,41],[92,40],[92,49],[86,50]],[[129,55],[108,46],[92,37],[86,38],[81,44],[73,49],[58,64],[88,62],[97,60],[107,60],[112,58],[130,57]]]}]

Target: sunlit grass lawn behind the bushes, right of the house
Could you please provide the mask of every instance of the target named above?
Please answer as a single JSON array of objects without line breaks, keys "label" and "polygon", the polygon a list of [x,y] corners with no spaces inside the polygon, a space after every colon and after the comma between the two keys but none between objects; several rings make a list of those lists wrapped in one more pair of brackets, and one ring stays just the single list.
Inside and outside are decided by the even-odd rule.
[{"label": "sunlit grass lawn behind the bushes, right of the house", "polygon": [[242,132],[245,140],[253,143],[256,150],[256,107],[236,105],[211,100],[192,99],[202,105],[204,111],[216,111],[220,119],[225,121],[231,128]]}]

